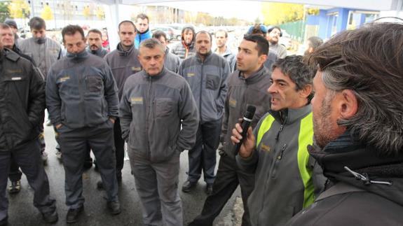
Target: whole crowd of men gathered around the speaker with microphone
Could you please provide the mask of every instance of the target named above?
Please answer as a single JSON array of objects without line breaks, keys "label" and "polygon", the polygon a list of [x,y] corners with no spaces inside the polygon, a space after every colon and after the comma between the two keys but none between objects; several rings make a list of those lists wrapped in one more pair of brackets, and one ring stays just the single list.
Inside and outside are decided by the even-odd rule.
[{"label": "whole crowd of men gathered around the speaker with microphone", "polygon": [[[125,143],[144,225],[184,224],[184,150],[182,192],[203,171],[208,195],[189,225],[213,225],[238,185],[243,226],[403,223],[403,24],[372,22],[326,43],[311,37],[304,56],[287,56],[280,27],[263,24],[236,54],[226,31],[213,39],[191,26],[169,49],[144,14],[118,24],[111,52],[97,29],[64,27],[63,55],[43,19],[29,26],[32,38],[21,40],[13,20],[0,24],[1,226],[8,178],[17,193],[22,173],[43,221],[58,220],[43,168],[45,109],[64,166],[67,223],[83,213],[90,152],[109,212],[121,213]],[[252,118],[243,118],[250,106]]]}]

